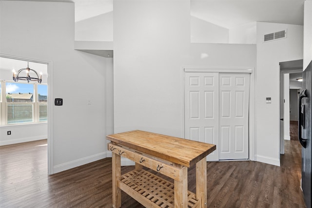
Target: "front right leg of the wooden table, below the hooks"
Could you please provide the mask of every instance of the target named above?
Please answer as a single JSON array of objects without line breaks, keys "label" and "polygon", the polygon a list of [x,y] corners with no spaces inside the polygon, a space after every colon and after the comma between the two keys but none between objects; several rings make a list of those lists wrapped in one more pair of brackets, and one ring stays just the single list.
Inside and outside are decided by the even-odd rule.
[{"label": "front right leg of the wooden table, below the hooks", "polygon": [[183,167],[180,181],[175,180],[175,208],[187,208],[187,191],[187,167]]}]

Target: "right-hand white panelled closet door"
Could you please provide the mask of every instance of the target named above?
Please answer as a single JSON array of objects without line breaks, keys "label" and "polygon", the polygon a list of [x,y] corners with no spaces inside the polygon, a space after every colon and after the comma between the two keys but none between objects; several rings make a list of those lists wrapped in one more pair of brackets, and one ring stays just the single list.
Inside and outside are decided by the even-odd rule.
[{"label": "right-hand white panelled closet door", "polygon": [[248,159],[249,74],[219,74],[219,159]]}]

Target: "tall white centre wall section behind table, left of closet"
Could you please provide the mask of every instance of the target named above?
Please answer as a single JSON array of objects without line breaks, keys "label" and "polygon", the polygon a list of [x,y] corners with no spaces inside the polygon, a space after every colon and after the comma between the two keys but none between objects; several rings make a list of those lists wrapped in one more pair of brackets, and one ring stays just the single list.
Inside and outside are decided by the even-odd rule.
[{"label": "tall white centre wall section behind table, left of closet", "polygon": [[115,133],[182,136],[190,1],[114,1]]}]

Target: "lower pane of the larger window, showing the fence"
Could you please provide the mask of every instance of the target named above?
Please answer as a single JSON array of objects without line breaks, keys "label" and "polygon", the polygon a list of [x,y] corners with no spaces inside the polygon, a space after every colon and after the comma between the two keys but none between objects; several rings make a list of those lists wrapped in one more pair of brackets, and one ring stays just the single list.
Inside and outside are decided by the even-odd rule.
[{"label": "lower pane of the larger window, showing the fence", "polygon": [[33,109],[32,103],[8,104],[8,124],[32,122]]}]

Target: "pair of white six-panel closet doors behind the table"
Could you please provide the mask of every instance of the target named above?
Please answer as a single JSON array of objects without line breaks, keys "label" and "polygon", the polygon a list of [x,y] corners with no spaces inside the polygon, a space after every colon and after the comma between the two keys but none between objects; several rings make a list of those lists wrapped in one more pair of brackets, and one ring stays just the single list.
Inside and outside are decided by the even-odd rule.
[{"label": "pair of white six-panel closet doors behind the table", "polygon": [[250,73],[184,69],[184,136],[217,146],[208,161],[249,159]]}]

